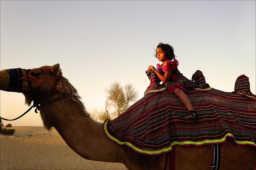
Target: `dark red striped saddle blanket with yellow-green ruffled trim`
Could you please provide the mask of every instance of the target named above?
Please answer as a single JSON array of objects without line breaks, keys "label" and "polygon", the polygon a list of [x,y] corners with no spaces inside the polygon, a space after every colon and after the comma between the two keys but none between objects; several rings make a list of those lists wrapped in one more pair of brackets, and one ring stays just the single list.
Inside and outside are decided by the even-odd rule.
[{"label": "dark red striped saddle blanket with yellow-green ruffled trim", "polygon": [[199,118],[186,121],[187,109],[180,99],[159,84],[154,72],[146,74],[150,86],[145,96],[116,119],[104,121],[110,140],[147,155],[175,146],[220,144],[228,137],[237,145],[256,147],[256,98],[248,86],[242,88],[248,85],[246,76],[238,78],[235,92],[222,92],[210,88],[202,72],[196,71],[192,76],[196,88],[186,94]]}]

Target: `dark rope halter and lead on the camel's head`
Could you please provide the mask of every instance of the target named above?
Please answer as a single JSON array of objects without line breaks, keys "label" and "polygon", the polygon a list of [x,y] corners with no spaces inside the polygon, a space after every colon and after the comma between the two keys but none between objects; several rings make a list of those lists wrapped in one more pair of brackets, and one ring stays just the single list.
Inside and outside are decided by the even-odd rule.
[{"label": "dark rope halter and lead on the camel's head", "polygon": [[[27,75],[29,75],[29,72],[30,72],[30,70],[26,70],[26,74],[27,74]],[[6,121],[14,121],[14,120],[17,120],[17,119],[19,119],[20,117],[24,116],[26,113],[28,113],[33,107],[36,107],[35,113],[38,113],[38,111],[40,110],[40,105],[39,105],[39,104],[42,104],[42,103],[52,103],[52,102],[55,102],[55,101],[57,101],[57,100],[60,100],[60,99],[64,98],[64,97],[65,97],[66,95],[68,95],[68,94],[63,94],[62,96],[59,96],[58,98],[55,98],[55,99],[50,100],[50,101],[44,101],[46,98],[48,98],[48,97],[53,96],[54,94],[56,94],[56,92],[54,92],[54,93],[52,93],[52,94],[46,96],[46,98],[44,98],[43,100],[36,99],[36,96],[35,96],[35,94],[34,94],[34,90],[33,90],[32,86],[31,86],[31,82],[30,82],[30,81],[35,81],[35,82],[37,82],[37,83],[42,83],[42,82],[45,82],[45,81],[48,81],[48,80],[52,80],[52,79],[59,79],[59,78],[61,78],[61,77],[62,77],[62,76],[58,76],[58,77],[50,78],[50,79],[47,79],[47,80],[34,80],[34,79],[28,79],[28,78],[25,78],[25,77],[18,78],[18,80],[27,80],[27,82],[28,82],[28,87],[29,87],[29,89],[30,89],[30,92],[32,92],[32,95],[33,95],[33,98],[32,98],[32,100],[33,100],[33,105],[32,105],[25,113],[23,113],[22,115],[20,115],[19,117],[15,118],[15,119],[5,119],[5,118],[3,118],[3,117],[0,117],[0,121],[1,121],[1,119],[6,120]],[[37,110],[38,110],[38,111],[37,111]]]}]

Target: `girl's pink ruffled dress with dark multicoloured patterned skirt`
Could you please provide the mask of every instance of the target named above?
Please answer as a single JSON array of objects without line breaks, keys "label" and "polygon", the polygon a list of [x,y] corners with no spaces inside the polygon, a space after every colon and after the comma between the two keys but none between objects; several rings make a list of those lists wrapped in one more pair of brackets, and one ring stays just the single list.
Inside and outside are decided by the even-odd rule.
[{"label": "girl's pink ruffled dress with dark multicoloured patterned skirt", "polygon": [[193,89],[195,87],[195,83],[192,80],[188,80],[188,78],[183,76],[182,73],[180,73],[178,70],[178,60],[168,60],[166,66],[163,66],[163,64],[157,64],[156,69],[158,72],[160,72],[160,74],[164,75],[167,71],[167,68],[171,65],[176,69],[172,71],[170,79],[164,84],[168,90],[170,92],[174,92],[176,88],[181,88],[184,92],[188,92],[188,90]]}]

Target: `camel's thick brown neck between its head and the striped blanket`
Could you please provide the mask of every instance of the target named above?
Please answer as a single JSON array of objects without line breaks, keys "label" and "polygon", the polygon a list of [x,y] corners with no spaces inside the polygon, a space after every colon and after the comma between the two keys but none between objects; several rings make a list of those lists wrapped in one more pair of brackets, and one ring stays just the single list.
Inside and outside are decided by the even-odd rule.
[{"label": "camel's thick brown neck between its head and the striped blanket", "polygon": [[[77,100],[80,102],[80,100]],[[110,141],[103,131],[103,124],[98,123],[85,113],[82,102],[74,97],[51,104],[41,104],[40,114],[47,127],[47,115],[51,116],[52,125],[68,146],[88,160],[120,162],[118,145]]]}]

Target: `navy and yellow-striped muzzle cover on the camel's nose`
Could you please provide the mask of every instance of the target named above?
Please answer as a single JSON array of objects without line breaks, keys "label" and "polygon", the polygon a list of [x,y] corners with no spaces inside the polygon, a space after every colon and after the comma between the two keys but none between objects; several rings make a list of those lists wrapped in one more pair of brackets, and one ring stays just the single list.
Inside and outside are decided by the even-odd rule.
[{"label": "navy and yellow-striped muzzle cover on the camel's nose", "polygon": [[18,92],[22,90],[21,68],[11,68],[0,71],[0,90]]}]

